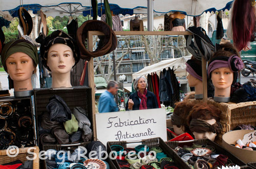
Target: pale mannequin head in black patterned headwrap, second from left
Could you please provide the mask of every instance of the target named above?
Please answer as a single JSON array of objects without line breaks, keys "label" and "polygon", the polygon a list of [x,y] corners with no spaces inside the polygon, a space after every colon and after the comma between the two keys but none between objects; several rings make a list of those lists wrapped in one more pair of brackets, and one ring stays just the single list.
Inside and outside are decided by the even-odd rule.
[{"label": "pale mannequin head in black patterned headwrap, second from left", "polygon": [[70,88],[70,71],[80,59],[80,51],[76,41],[61,30],[54,31],[43,38],[40,35],[36,42],[40,43],[42,64],[52,73],[52,88]]}]

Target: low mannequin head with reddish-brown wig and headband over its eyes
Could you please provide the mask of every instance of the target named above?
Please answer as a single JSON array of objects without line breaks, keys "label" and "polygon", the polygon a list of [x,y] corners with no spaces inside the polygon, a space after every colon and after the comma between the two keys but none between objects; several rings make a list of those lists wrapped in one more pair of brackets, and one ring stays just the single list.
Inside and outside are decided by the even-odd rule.
[{"label": "low mannequin head with reddish-brown wig and headband over its eyes", "polygon": [[196,104],[189,112],[189,129],[194,134],[195,139],[209,138],[214,141],[221,130],[220,121],[221,110],[214,105],[206,103]]}]

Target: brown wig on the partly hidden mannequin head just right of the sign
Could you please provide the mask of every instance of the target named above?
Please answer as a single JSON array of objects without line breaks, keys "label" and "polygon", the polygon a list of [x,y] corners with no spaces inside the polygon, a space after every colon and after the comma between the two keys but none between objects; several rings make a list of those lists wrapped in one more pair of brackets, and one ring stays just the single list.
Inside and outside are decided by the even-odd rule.
[{"label": "brown wig on the partly hidden mannequin head just right of the sign", "polygon": [[[182,102],[176,102],[175,103],[175,109],[174,109],[174,115],[177,115],[180,117],[181,123],[185,127],[185,132],[188,132],[190,134],[189,125],[187,125],[186,118],[189,114],[189,111],[192,109],[192,107],[195,105],[190,100],[183,100]],[[177,125],[177,127],[181,127],[180,125]]]}]

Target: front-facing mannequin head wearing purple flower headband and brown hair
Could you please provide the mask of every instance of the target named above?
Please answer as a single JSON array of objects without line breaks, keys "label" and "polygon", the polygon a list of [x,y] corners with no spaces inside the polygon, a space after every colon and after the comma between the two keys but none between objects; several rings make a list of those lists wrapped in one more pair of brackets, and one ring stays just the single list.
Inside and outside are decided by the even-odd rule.
[{"label": "front-facing mannequin head wearing purple flower headband and brown hair", "polygon": [[238,71],[243,69],[239,52],[231,43],[217,45],[208,64],[208,75],[215,87],[215,97],[230,97],[232,83],[237,81]]}]

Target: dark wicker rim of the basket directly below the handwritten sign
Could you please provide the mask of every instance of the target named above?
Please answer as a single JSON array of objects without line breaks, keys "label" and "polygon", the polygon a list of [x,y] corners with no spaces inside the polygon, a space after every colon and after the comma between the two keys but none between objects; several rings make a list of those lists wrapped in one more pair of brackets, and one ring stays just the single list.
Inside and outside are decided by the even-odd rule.
[{"label": "dark wicker rim of the basket directly below the handwritten sign", "polygon": [[[163,149],[163,152],[167,154],[168,157],[172,158],[177,164],[179,164],[180,168],[190,169],[190,167],[172,149],[170,149],[160,137],[143,139],[138,142],[108,142],[106,144],[108,149],[107,151],[110,154],[110,152],[112,151],[110,147],[112,145],[119,145],[122,146],[123,148],[127,148],[131,143],[141,143],[142,145],[146,145],[149,148],[160,147]],[[116,165],[117,169],[121,169],[117,160],[113,160],[113,162]]]}]

